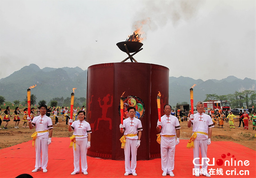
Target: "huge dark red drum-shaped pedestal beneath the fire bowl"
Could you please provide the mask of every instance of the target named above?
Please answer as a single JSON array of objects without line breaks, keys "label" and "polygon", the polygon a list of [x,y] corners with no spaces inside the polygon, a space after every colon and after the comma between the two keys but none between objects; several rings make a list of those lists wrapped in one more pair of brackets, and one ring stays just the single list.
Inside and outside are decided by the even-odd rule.
[{"label": "huge dark red drum-shaped pedestal beneath the fire bowl", "polygon": [[120,138],[120,96],[124,93],[124,118],[129,106],[136,108],[136,117],[143,131],[137,160],[160,158],[156,142],[158,119],[156,97],[161,92],[161,115],[169,98],[169,69],[148,63],[119,62],[96,64],[88,68],[86,118],[92,128],[92,157],[124,160]]}]

